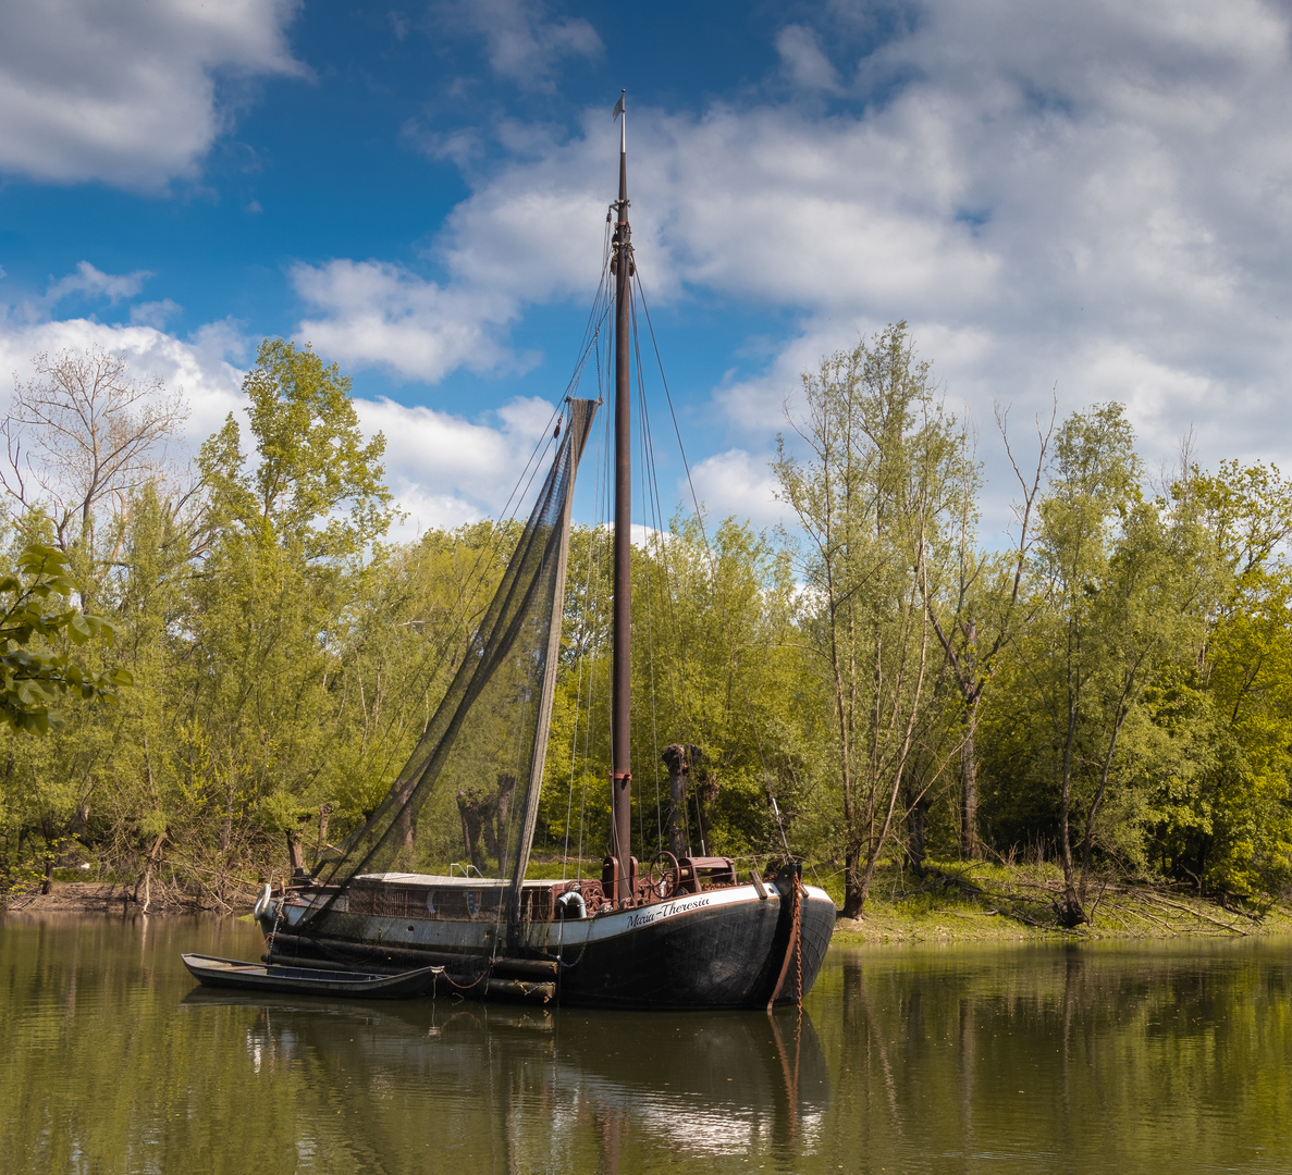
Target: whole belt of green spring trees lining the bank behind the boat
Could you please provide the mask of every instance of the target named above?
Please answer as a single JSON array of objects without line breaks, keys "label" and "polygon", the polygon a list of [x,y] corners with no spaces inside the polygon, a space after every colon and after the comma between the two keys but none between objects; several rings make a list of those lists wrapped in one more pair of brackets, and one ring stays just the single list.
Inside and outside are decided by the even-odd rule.
[{"label": "whole belt of green spring trees lining the bank behind the boat", "polygon": [[[388,542],[384,442],[309,347],[261,346],[245,420],[190,471],[163,460],[182,405],[120,356],[40,372],[6,426],[0,886],[89,865],[145,905],[227,906],[289,838],[326,856],[381,801],[517,526]],[[90,400],[80,433],[54,429]],[[1068,923],[1114,875],[1226,903],[1292,887],[1276,469],[1185,460],[1154,488],[1121,407],[1094,405],[1041,434],[994,550],[969,431],[903,324],[827,356],[795,413],[775,465],[793,535],[678,514],[633,549],[640,859],[668,842],[681,744],[685,843],[788,844],[849,913],[877,870],[978,852],[1062,875]],[[109,436],[125,456],[94,466]],[[535,846],[553,875],[607,847],[610,580],[609,532],[576,527]],[[487,790],[484,741],[463,762]],[[447,863],[465,846],[441,790]]]}]

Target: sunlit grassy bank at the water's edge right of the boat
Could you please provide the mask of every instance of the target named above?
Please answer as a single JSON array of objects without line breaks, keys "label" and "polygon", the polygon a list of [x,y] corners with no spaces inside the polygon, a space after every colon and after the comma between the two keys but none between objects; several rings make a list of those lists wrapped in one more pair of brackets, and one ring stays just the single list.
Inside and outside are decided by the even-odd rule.
[{"label": "sunlit grassy bank at the water's edge right of the boat", "polygon": [[[836,905],[842,877],[809,869]],[[925,877],[888,864],[876,873],[860,918],[840,918],[835,941],[977,943],[992,940],[1173,939],[1182,935],[1245,937],[1292,932],[1292,905],[1222,903],[1180,886],[1099,879],[1090,887],[1089,926],[1061,927],[1053,900],[1062,873],[1052,864],[996,865],[985,861],[933,866]]]}]

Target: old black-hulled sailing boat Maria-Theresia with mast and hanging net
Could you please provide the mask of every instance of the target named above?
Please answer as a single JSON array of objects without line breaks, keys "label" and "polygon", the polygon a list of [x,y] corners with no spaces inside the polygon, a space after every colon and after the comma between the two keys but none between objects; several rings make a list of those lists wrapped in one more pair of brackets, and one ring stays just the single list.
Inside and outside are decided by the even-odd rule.
[{"label": "old black-hulled sailing boat Maria-Theresia with mast and hanging net", "polygon": [[[269,886],[256,905],[266,971],[437,968],[439,989],[580,1007],[771,1007],[801,1001],[820,968],[835,904],[789,859],[739,874],[730,857],[630,847],[630,296],[624,99],[619,199],[603,270],[614,319],[611,829],[599,877],[526,877],[539,815],[561,648],[571,491],[598,402],[566,400],[547,479],[497,593],[443,701],[381,806],[318,875]],[[496,794],[481,795],[496,777]],[[483,830],[497,875],[444,860],[452,794],[468,848]],[[438,837],[438,841],[437,841]],[[459,842],[460,843],[460,842]],[[474,853],[473,853],[474,855]],[[470,875],[470,874],[475,875]],[[230,983],[224,967],[218,981]],[[360,974],[362,972],[362,974]],[[194,974],[203,977],[200,968]],[[216,968],[212,977],[216,983]],[[305,986],[302,980],[302,989]]]}]

